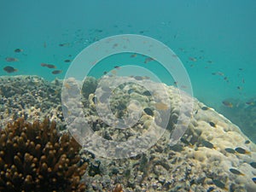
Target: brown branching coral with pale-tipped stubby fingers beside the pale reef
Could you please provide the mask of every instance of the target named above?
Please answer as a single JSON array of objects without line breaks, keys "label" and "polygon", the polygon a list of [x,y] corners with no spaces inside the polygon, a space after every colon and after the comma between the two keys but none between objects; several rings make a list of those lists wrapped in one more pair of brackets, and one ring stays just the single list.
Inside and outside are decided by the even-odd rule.
[{"label": "brown branching coral with pale-tipped stubby fingers beside the pale reef", "polygon": [[79,143],[60,137],[55,122],[24,119],[9,123],[0,136],[0,191],[84,191],[86,164]]}]

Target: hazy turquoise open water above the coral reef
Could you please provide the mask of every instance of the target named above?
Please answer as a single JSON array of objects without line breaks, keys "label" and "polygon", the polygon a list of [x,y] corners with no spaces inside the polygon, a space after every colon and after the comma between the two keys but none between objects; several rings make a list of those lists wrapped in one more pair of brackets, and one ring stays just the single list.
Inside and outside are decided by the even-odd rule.
[{"label": "hazy turquoise open water above the coral reef", "polygon": [[[66,60],[72,61],[97,40],[119,34],[145,35],[166,44],[178,55],[189,73],[196,98],[224,113],[247,135],[255,132],[253,0],[12,0],[0,2],[0,18],[0,75],[32,74],[48,80],[63,79],[71,64]],[[23,51],[16,53],[15,49]],[[9,62],[6,57],[19,61]],[[120,55],[117,63],[113,63],[113,58],[106,60],[108,67],[98,63],[96,77],[114,66],[140,62],[138,57],[129,55]],[[41,63],[53,64],[62,73],[52,74],[53,69],[42,67]],[[152,67],[152,63],[147,63],[148,69],[160,73],[166,84],[174,84],[172,77],[160,67]],[[6,66],[18,71],[6,73]],[[233,108],[224,106],[224,100],[232,102]],[[243,116],[254,119],[243,122]],[[256,136],[253,138],[256,141]]]}]

